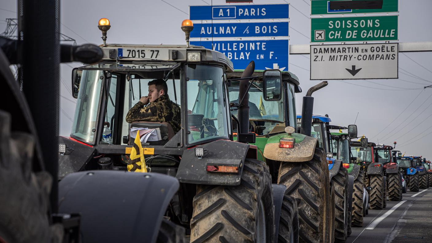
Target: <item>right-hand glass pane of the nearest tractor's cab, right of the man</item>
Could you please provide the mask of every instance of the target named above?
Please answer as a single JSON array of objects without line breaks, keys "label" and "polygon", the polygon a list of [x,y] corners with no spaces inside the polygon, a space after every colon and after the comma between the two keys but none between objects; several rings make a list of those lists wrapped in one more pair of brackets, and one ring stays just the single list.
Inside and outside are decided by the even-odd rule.
[{"label": "right-hand glass pane of the nearest tractor's cab, right of the man", "polygon": [[187,64],[187,141],[228,139],[229,107],[222,67]]}]

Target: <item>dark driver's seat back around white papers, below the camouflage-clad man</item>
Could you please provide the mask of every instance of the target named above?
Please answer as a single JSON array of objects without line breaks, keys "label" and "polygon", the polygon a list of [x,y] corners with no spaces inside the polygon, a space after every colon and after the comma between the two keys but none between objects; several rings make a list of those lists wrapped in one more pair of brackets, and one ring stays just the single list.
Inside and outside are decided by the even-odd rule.
[{"label": "dark driver's seat back around white papers, below the camouflage-clad man", "polygon": [[[165,145],[168,140],[174,137],[175,133],[171,124],[166,121],[134,121],[130,124],[131,128],[159,128],[162,140],[147,141],[149,145]],[[135,138],[129,136],[129,145],[132,145]]]}]

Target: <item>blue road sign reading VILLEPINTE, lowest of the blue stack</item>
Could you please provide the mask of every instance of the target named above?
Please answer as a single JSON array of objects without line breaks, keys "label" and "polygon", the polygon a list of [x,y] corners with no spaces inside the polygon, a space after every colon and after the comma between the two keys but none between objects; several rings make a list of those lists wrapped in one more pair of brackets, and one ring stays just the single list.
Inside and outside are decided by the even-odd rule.
[{"label": "blue road sign reading VILLEPINTE, lowest of the blue stack", "polygon": [[191,45],[220,51],[225,54],[235,69],[245,69],[250,61],[255,61],[255,70],[288,70],[289,40],[259,41],[191,41]]}]

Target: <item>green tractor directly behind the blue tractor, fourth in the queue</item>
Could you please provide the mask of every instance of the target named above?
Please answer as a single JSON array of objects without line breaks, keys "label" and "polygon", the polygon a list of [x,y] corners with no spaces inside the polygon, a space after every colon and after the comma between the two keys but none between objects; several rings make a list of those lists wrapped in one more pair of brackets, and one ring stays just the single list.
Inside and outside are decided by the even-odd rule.
[{"label": "green tractor directly behind the blue tractor, fourth in the queue", "polygon": [[[342,131],[348,129],[346,127],[340,127],[335,125],[328,125],[330,130],[337,129]],[[336,156],[337,160],[342,160],[342,165],[348,171],[349,176],[354,177],[353,187],[353,204],[352,204],[352,215],[351,224],[354,227],[363,227],[363,217],[368,214],[369,207],[369,194],[364,185],[365,173],[362,170],[362,166],[353,163],[350,150],[350,137],[348,133],[330,133],[331,137],[331,148],[333,156]],[[363,144],[367,147],[366,138],[362,138]]]}]

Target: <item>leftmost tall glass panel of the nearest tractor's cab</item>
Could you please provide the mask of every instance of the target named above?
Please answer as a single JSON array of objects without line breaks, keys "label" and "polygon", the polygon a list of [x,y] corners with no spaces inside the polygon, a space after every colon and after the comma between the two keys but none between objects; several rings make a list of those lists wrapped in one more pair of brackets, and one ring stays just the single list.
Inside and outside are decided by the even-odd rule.
[{"label": "leftmost tall glass panel of the nearest tractor's cab", "polygon": [[90,144],[95,144],[102,82],[103,72],[101,70],[83,70],[71,136]]}]

